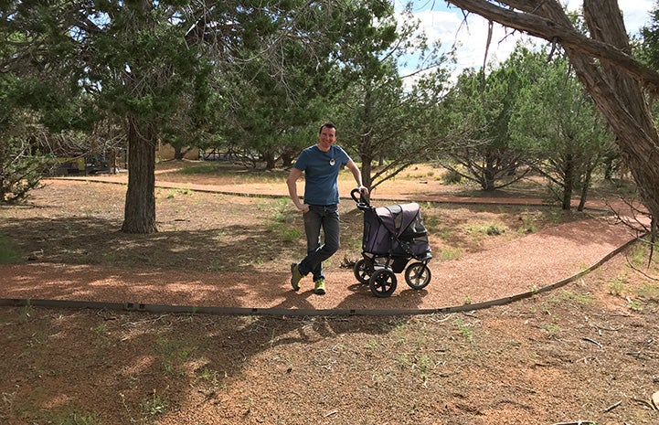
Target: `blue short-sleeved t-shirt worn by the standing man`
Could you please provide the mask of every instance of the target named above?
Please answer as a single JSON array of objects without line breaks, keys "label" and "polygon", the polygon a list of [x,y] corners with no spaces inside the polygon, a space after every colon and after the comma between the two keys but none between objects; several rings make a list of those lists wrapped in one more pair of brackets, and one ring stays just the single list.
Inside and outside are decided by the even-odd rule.
[{"label": "blue short-sleeved t-shirt worn by the standing man", "polygon": [[350,156],[333,144],[323,152],[317,145],[304,149],[295,168],[304,172],[304,203],[309,205],[334,205],[339,203],[338,175]]}]

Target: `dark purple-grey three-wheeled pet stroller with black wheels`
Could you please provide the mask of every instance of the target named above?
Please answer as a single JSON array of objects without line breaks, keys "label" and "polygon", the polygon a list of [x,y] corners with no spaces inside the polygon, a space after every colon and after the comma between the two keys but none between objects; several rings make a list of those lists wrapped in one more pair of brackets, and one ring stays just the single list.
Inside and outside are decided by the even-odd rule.
[{"label": "dark purple-grey three-wheeled pet stroller with black wheels", "polygon": [[350,196],[364,212],[362,258],[354,267],[357,281],[368,284],[377,297],[388,297],[396,291],[395,273],[403,270],[412,289],[428,286],[432,255],[419,204],[372,207],[358,189],[353,189]]}]

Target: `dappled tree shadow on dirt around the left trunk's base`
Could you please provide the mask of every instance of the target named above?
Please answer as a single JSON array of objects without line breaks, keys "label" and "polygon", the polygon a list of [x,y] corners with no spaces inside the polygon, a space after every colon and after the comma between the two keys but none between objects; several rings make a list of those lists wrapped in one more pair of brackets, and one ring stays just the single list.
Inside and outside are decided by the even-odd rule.
[{"label": "dappled tree shadow on dirt around the left trunk's base", "polygon": [[104,218],[6,218],[0,232],[26,260],[152,270],[253,272],[254,263],[282,258],[284,243],[266,226],[170,230],[141,235],[118,231]]}]

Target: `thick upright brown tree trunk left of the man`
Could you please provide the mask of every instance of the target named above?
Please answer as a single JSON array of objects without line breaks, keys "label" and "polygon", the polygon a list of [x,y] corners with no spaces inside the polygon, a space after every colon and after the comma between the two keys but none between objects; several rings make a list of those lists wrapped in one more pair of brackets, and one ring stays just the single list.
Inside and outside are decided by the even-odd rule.
[{"label": "thick upright brown tree trunk left of the man", "polygon": [[122,231],[148,234],[155,227],[155,146],[150,123],[128,120],[128,190]]}]

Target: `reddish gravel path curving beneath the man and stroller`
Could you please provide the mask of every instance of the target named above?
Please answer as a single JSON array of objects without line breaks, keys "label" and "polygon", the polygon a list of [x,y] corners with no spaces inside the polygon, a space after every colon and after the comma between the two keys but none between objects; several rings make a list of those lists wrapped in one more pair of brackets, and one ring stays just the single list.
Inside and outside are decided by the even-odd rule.
[{"label": "reddish gravel path curving beneath the man and stroller", "polygon": [[[106,177],[105,181],[121,183],[121,178]],[[158,184],[181,186],[167,182]],[[223,191],[221,187],[204,185],[194,188]],[[254,194],[261,190],[260,187],[243,188]],[[277,192],[282,188],[270,187],[270,190]],[[505,203],[515,201],[520,200],[498,199]],[[384,299],[375,297],[367,285],[356,282],[349,269],[328,275],[328,293],[317,296],[311,291],[313,283],[308,278],[303,280],[300,292],[292,292],[290,275],[284,267],[279,273],[252,273],[249,269],[241,273],[136,273],[107,266],[51,263],[0,266],[3,276],[0,298],[298,311],[434,310],[464,303],[484,303],[556,284],[598,264],[633,237],[627,228],[611,219],[570,222],[529,234],[495,250],[464,255],[457,260],[431,260],[432,280],[425,290],[410,289],[400,273],[398,289]]]}]

